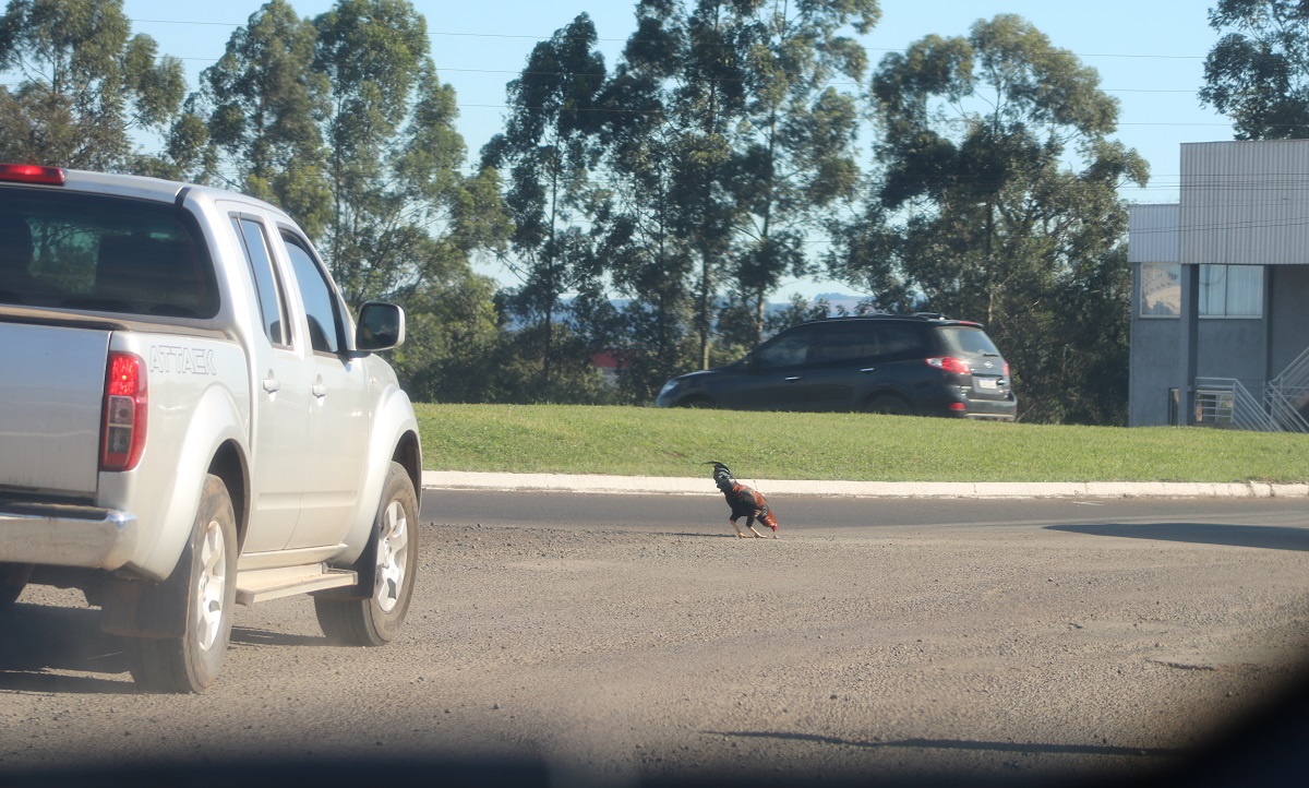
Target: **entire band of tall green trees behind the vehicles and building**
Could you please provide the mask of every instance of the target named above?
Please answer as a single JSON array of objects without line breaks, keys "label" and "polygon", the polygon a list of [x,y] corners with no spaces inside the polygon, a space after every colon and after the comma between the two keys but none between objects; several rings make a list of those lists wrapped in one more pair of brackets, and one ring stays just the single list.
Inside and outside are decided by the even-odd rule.
[{"label": "entire band of tall green trees behind the vehicles and building", "polygon": [[[1309,128],[1304,7],[1216,0],[1227,34],[1202,98],[1238,136]],[[924,37],[865,82],[857,35],[880,13],[637,0],[613,69],[579,14],[533,48],[504,132],[467,168],[408,0],[336,0],[314,18],[268,0],[185,105],[179,60],[131,35],[120,0],[12,0],[0,160],[234,185],[284,207],[351,305],[406,306],[394,361],[420,399],[649,402],[673,374],[840,313],[764,309],[787,280],[826,274],[873,295],[860,309],[984,322],[1024,419],[1121,423],[1117,188],[1147,170],[1111,139],[1117,102],[1011,14]],[[161,151],[137,151],[140,132],[166,132]],[[518,287],[474,275],[478,255]]]}]

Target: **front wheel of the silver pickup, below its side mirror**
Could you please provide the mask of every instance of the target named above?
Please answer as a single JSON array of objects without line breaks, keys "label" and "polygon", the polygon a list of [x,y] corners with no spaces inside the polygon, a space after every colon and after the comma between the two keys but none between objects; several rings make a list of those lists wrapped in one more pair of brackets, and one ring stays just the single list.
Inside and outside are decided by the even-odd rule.
[{"label": "front wheel of the silver pickup, below its side mirror", "polygon": [[318,624],[342,645],[384,645],[401,630],[418,571],[418,495],[404,466],[393,462],[364,555],[351,567],[359,584],[314,596]]}]

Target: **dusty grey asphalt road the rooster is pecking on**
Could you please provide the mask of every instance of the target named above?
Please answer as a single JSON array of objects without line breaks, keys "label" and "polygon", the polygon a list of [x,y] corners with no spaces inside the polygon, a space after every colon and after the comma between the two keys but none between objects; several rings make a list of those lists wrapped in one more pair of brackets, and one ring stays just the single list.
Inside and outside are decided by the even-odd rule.
[{"label": "dusty grey asphalt road the rooster is pecking on", "polygon": [[203,696],[137,692],[80,594],[30,588],[0,784],[1145,780],[1305,675],[1302,500],[772,504],[776,541],[708,495],[428,491],[398,641],[240,609]]}]

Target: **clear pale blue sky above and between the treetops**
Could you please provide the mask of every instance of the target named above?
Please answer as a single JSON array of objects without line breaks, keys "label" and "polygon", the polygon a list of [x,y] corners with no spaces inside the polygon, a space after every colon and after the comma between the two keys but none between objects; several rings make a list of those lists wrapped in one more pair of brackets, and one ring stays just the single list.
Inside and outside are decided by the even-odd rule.
[{"label": "clear pale blue sky above and between the treetops", "polygon": [[[317,16],[331,0],[293,0],[301,16]],[[262,5],[258,0],[178,3],[126,0],[132,29],[183,59],[188,88],[221,54],[233,29]],[[631,33],[635,0],[415,0],[427,17],[432,59],[441,80],[456,88],[459,131],[470,157],[501,127],[504,85],[522,68],[531,47],[581,12],[590,14],[609,64]],[[1115,135],[1151,162],[1147,188],[1124,190],[1141,203],[1177,200],[1179,144],[1232,137],[1221,115],[1200,106],[1204,55],[1217,41],[1206,0],[882,0],[882,21],[863,37],[872,63],[927,34],[965,35],[979,18],[1016,13],[1051,43],[1096,68],[1101,86],[1121,102]],[[813,296],[833,289],[796,281],[784,293]]]}]

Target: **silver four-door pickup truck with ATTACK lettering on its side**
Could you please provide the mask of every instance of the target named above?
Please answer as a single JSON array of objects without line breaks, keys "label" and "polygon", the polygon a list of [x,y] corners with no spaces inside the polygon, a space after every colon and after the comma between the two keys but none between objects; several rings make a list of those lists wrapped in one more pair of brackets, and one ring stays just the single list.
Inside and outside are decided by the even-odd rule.
[{"label": "silver four-door pickup truck with ATTACK lettering on its side", "polygon": [[329,637],[391,640],[421,449],[376,352],[403,340],[267,203],[0,165],[0,610],[82,589],[161,691],[213,682],[236,605],[310,593]]}]

